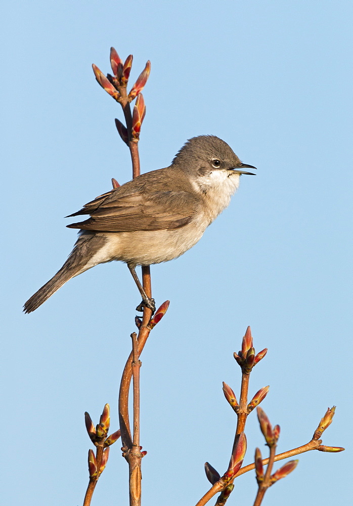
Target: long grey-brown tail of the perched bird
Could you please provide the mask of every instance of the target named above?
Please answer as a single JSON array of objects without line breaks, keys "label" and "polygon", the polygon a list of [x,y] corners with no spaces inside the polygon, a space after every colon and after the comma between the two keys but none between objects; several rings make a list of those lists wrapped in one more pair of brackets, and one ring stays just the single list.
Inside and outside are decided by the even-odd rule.
[{"label": "long grey-brown tail of the perched bird", "polygon": [[62,268],[25,303],[24,312],[31,313],[43,302],[46,302],[66,281],[101,263],[102,260],[96,263],[90,262],[90,260],[104,246],[105,242],[104,235],[83,232]]}]

